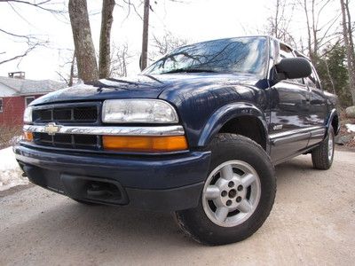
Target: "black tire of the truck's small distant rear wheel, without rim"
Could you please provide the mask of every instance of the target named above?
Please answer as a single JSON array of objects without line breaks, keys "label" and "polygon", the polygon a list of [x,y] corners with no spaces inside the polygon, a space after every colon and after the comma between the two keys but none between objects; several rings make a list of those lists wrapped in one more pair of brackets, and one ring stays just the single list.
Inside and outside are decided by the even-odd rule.
[{"label": "black tire of the truck's small distant rear wheel, without rim", "polygon": [[[334,135],[334,129],[330,126],[327,130],[327,137],[312,151],[313,168],[327,170],[332,166],[335,152]],[[329,141],[333,144],[331,156],[329,156]]]}]

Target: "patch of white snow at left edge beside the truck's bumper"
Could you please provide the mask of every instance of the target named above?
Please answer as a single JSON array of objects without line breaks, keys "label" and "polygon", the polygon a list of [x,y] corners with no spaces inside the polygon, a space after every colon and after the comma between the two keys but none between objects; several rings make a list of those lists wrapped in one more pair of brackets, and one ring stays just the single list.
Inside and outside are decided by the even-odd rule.
[{"label": "patch of white snow at left edge beside the truck's bumper", "polygon": [[0,150],[0,192],[20,184],[28,184],[28,178],[22,176],[12,147]]}]

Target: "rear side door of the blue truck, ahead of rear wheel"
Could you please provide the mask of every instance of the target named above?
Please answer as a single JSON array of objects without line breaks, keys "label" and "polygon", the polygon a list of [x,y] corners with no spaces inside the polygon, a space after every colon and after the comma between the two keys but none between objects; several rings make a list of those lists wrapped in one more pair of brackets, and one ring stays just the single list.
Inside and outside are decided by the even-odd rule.
[{"label": "rear side door of the blue truck, ahead of rear wheel", "polygon": [[310,110],[307,115],[307,125],[312,129],[309,146],[323,140],[326,134],[327,99],[321,89],[318,74],[312,66],[312,74],[305,78],[308,90],[310,90]]}]

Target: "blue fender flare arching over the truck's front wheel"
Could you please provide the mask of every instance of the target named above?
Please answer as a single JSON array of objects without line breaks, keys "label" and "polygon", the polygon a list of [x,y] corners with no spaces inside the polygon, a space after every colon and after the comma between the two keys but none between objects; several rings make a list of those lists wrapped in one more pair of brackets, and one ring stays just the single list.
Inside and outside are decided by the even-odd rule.
[{"label": "blue fender flare arching over the truck's front wheel", "polygon": [[219,130],[222,129],[227,121],[245,115],[256,117],[263,124],[266,150],[268,151],[270,144],[267,129],[268,127],[264,113],[256,106],[248,103],[233,103],[217,109],[217,111],[209,117],[209,120],[204,125],[199,137],[198,146],[203,147],[209,145],[209,142],[217,135]]}]

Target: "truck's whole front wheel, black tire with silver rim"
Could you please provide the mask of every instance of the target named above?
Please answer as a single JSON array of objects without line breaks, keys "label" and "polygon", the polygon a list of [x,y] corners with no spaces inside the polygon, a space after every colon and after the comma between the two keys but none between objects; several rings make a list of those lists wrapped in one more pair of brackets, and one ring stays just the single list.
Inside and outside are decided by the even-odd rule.
[{"label": "truck's whole front wheel, black tire with silver rim", "polygon": [[211,166],[198,207],[176,213],[193,239],[225,245],[251,236],[270,214],[276,192],[272,162],[247,137],[218,134],[209,146]]}]

